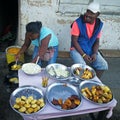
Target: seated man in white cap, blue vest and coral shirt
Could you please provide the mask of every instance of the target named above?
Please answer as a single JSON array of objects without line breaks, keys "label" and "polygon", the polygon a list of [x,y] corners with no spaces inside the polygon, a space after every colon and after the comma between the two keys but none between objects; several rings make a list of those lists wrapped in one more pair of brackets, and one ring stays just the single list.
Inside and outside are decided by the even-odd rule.
[{"label": "seated man in white cap, blue vest and coral shirt", "polygon": [[100,78],[108,64],[99,53],[99,39],[103,22],[98,18],[99,4],[92,2],[84,15],[77,18],[71,25],[70,55],[74,63],[88,64]]}]

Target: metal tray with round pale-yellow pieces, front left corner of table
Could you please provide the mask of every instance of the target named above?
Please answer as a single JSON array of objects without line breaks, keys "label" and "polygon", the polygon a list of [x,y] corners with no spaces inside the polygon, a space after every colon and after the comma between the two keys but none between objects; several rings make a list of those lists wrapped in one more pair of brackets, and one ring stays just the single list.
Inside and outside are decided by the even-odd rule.
[{"label": "metal tray with round pale-yellow pieces, front left corner of table", "polygon": [[10,106],[22,115],[32,115],[45,107],[45,98],[41,89],[35,86],[22,86],[10,96]]}]

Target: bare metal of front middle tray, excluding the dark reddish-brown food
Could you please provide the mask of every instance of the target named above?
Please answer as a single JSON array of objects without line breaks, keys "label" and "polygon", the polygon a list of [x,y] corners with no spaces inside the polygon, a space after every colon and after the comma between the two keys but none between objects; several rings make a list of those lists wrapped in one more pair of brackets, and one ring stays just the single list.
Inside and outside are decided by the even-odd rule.
[{"label": "bare metal of front middle tray, excluding the dark reddish-brown food", "polygon": [[[73,86],[72,84],[66,83],[66,82],[56,82],[48,86],[46,90],[46,98],[50,105],[58,110],[64,110],[60,106],[52,104],[53,99],[62,99],[65,101],[68,97],[71,95],[77,95],[80,104],[76,107],[78,108],[81,105],[81,95],[77,87]],[[76,109],[74,108],[74,109]],[[64,111],[70,111],[73,109],[69,110],[64,110]]]}]

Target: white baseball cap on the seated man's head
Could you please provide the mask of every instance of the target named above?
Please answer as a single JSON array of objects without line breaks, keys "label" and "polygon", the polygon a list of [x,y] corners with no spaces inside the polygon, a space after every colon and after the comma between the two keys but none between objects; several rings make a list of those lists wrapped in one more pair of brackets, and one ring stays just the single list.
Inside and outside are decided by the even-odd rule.
[{"label": "white baseball cap on the seated man's head", "polygon": [[97,12],[100,12],[100,5],[97,2],[91,2],[88,5],[87,9],[90,10],[90,11],[92,11],[93,13],[97,13]]}]

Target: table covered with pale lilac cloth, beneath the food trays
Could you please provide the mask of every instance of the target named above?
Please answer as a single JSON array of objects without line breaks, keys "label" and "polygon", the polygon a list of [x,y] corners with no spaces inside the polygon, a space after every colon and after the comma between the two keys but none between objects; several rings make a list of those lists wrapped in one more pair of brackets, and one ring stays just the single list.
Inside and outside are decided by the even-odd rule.
[{"label": "table covered with pale lilac cloth, beneath the food trays", "polygon": [[[34,85],[42,89],[43,92],[45,93],[46,88],[43,88],[41,85],[43,72],[44,72],[44,69],[42,69],[42,72],[37,75],[27,75],[20,69],[18,71],[19,86]],[[95,77],[94,80],[101,82],[97,77]],[[48,84],[54,83],[55,81],[56,80],[49,79]],[[82,98],[82,104],[77,109],[73,111],[65,112],[65,111],[60,111],[60,110],[53,108],[47,102],[45,108],[42,111],[35,114],[34,116],[25,115],[22,117],[24,118],[24,120],[33,120],[33,119],[43,120],[43,119],[59,118],[59,117],[65,117],[65,116],[89,114],[89,113],[95,113],[95,112],[100,112],[103,114],[107,110],[106,117],[110,118],[112,116],[112,109],[116,106],[116,104],[117,104],[117,101],[115,99],[113,99],[109,104],[98,105],[98,104],[94,104]],[[93,114],[90,114],[90,116],[92,117],[92,119],[95,119]]]}]

